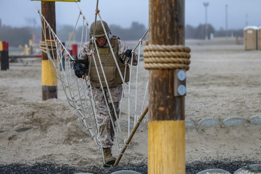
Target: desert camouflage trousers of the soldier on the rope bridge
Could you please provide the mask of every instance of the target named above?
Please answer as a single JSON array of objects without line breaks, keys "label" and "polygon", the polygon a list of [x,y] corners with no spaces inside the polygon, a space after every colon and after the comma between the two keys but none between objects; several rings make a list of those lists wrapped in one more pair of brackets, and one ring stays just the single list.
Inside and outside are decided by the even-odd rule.
[{"label": "desert camouflage trousers of the soldier on the rope bridge", "polygon": [[[100,135],[98,134],[97,136],[97,141],[99,145],[102,145],[103,148],[109,148],[110,146],[113,145],[112,142],[114,141],[114,135],[115,135],[112,124],[114,125],[114,127],[116,126],[115,122],[117,118],[115,116],[112,103],[108,103],[109,108],[107,108],[104,97],[102,98],[101,102],[95,101],[95,104],[96,104],[96,116],[98,121],[97,128],[100,131]],[[120,113],[119,104],[120,104],[119,101],[114,102],[117,117],[119,117],[119,113]],[[111,121],[109,112],[111,114],[113,121]]]}]

